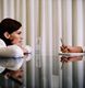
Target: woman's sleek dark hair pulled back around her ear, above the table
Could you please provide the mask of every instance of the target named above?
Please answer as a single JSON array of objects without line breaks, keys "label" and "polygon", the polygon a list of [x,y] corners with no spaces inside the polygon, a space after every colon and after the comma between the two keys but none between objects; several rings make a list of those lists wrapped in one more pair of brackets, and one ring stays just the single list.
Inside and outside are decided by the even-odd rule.
[{"label": "woman's sleek dark hair pulled back around her ear, above the table", "polygon": [[11,41],[4,37],[4,32],[11,34],[14,31],[19,30],[22,24],[16,20],[10,18],[3,19],[0,23],[0,38],[2,38],[7,45],[11,45]]}]

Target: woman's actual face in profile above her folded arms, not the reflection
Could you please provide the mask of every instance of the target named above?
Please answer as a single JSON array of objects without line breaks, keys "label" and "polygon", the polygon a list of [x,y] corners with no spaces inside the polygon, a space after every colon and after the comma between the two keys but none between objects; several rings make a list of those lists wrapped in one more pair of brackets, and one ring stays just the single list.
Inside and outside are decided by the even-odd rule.
[{"label": "woman's actual face in profile above her folded arms, not the reflection", "polygon": [[19,30],[14,31],[13,33],[11,33],[9,40],[12,41],[12,44],[20,45],[22,43],[22,41],[23,41],[23,38],[22,38],[22,28],[20,28]]}]

